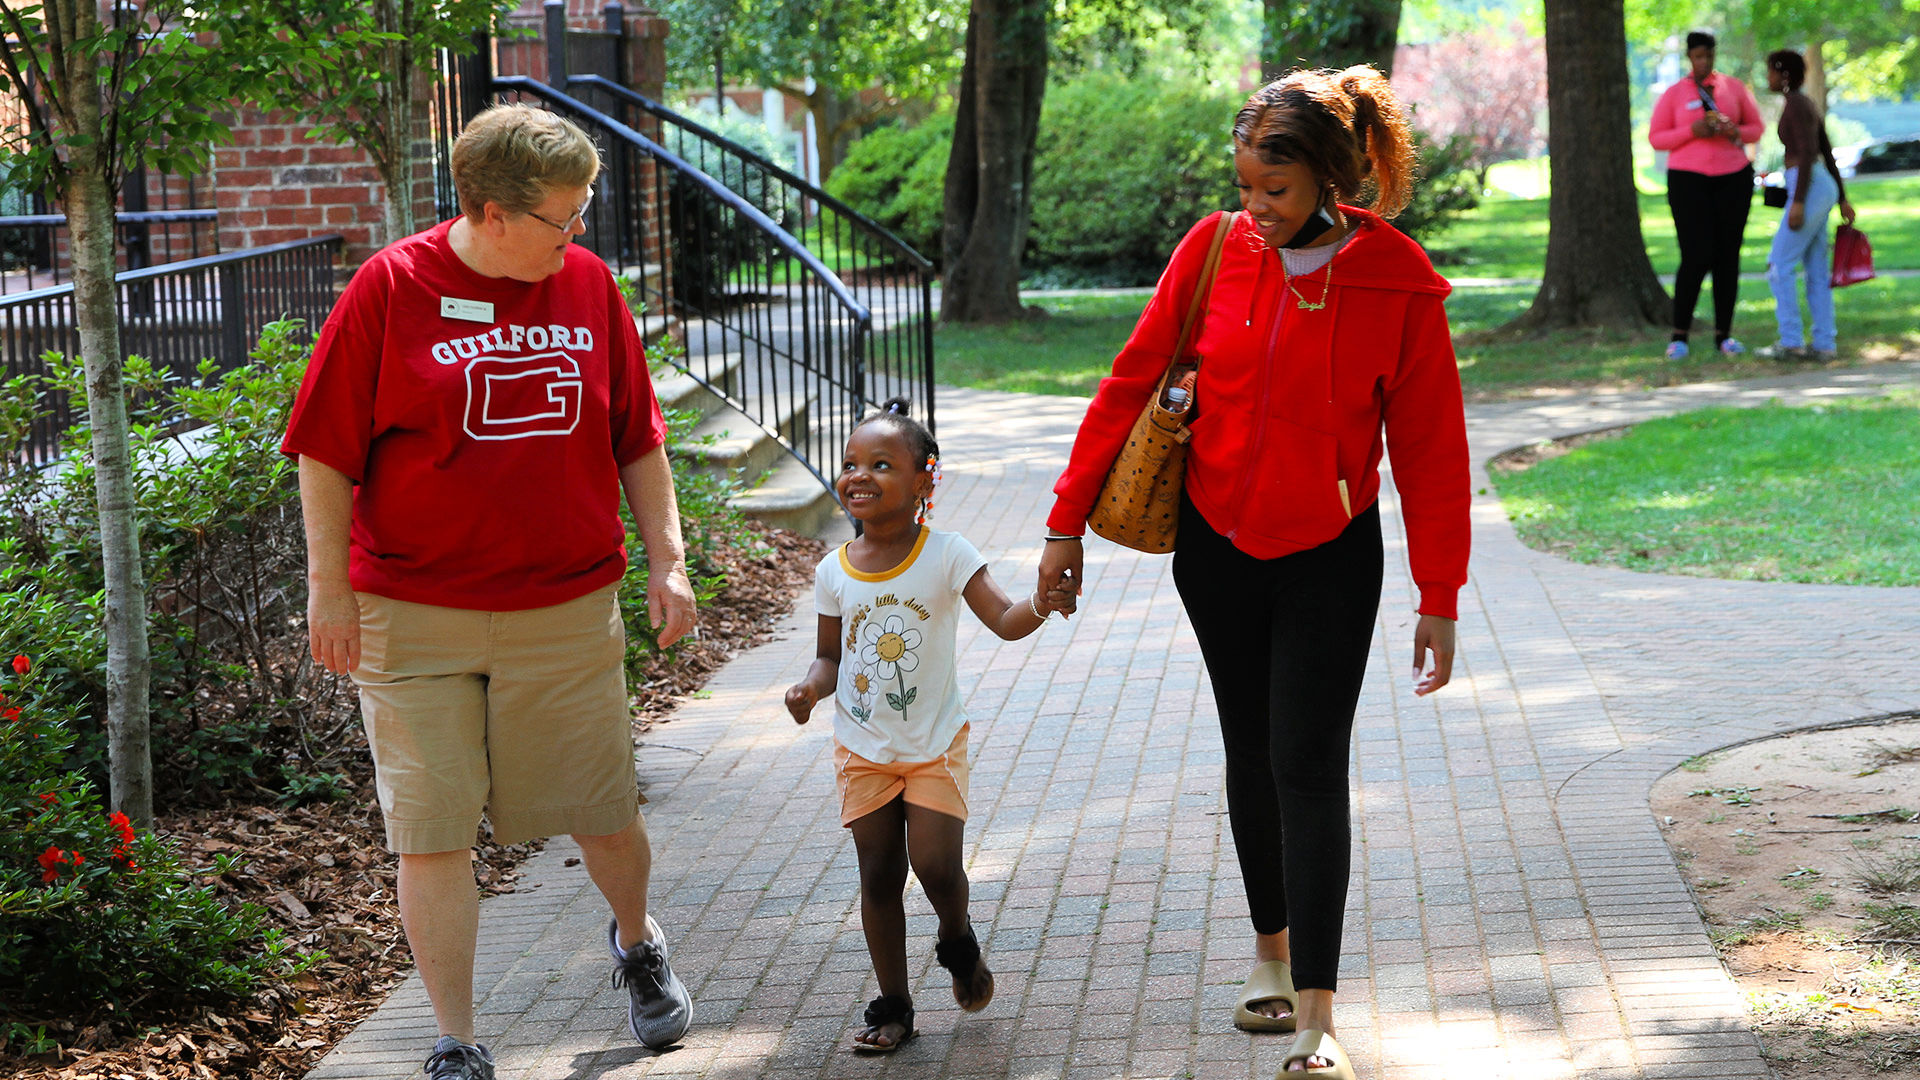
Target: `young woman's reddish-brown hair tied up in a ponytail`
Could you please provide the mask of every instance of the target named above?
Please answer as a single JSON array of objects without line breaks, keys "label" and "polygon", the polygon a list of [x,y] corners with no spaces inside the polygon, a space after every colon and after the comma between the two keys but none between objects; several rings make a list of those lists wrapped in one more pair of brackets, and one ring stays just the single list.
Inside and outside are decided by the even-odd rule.
[{"label": "young woman's reddish-brown hair tied up in a ponytail", "polygon": [[1380,217],[1413,198],[1413,129],[1386,77],[1365,63],[1267,83],[1240,108],[1233,138],[1269,165],[1306,165],[1340,198],[1371,188]]}]

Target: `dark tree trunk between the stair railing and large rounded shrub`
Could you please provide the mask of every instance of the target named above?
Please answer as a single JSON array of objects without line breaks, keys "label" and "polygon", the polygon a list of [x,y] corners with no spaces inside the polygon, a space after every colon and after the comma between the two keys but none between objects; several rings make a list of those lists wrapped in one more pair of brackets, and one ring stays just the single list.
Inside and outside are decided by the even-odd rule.
[{"label": "dark tree trunk between the stair railing and large rounded shrub", "polygon": [[1046,92],[1046,0],[973,0],[947,160],[941,321],[1021,315],[1020,256]]}]

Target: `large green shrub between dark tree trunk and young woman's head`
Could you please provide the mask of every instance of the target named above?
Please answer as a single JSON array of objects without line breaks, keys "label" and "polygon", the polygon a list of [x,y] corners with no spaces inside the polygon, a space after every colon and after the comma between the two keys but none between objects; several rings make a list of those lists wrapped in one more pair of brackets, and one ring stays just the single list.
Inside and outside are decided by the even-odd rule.
[{"label": "large green shrub between dark tree trunk and young woman's head", "polygon": [[1058,284],[1152,284],[1196,221],[1238,209],[1240,94],[1094,73],[1050,86],[1025,269]]}]

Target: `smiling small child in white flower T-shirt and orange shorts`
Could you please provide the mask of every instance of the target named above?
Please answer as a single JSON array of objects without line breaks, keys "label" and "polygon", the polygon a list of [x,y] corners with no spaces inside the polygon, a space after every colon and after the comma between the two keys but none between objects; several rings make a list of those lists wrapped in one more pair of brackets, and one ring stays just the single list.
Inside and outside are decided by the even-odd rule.
[{"label": "smiling small child in white flower T-shirt and orange shorts", "polygon": [[1004,640],[1025,638],[1050,611],[1073,611],[1064,590],[1008,600],[972,544],[925,527],[939,454],[904,398],[847,436],[833,490],[862,528],[814,573],[818,655],[787,690],[799,724],[833,696],[841,824],[860,855],[860,920],[879,976],[866,1028],[852,1036],[856,1051],[895,1051],[914,1038],[900,903],[908,865],[939,915],[933,957],[952,972],[954,1001],[977,1013],[993,997],[962,861],[968,723],[954,678],[958,601],[966,598]]}]

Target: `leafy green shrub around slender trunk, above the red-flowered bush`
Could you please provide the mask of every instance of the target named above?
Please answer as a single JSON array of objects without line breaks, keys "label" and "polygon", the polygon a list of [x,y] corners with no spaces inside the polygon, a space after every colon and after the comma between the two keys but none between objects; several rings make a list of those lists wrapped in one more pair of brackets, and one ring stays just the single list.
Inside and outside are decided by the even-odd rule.
[{"label": "leafy green shrub around slender trunk, above the red-flowered bush", "polygon": [[[252,363],[190,377],[127,359],[134,505],[148,580],[154,792],[163,807],[234,798],[319,798],[313,773],[355,723],[344,680],[290,644],[305,607],[298,473],[278,452],[311,338],[298,321],[261,331]],[[48,700],[81,717],[73,765],[106,784],[106,642],[98,503],[79,365],[0,396],[0,438],[17,438],[65,394],[83,417],[60,469],[0,473],[0,634],[46,642]],[[12,444],[0,446],[0,455]],[[219,688],[209,694],[207,688]],[[326,774],[324,771],[321,773]]]}]

